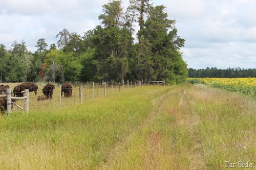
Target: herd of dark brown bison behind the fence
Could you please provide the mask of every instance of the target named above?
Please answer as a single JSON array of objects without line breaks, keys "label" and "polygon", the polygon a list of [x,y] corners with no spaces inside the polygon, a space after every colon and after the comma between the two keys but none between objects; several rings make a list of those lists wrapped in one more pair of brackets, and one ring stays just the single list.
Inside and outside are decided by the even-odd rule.
[{"label": "herd of dark brown bison behind the fence", "polygon": [[[0,108],[1,108],[1,113],[3,113],[7,109],[7,100],[4,97],[1,98],[1,94],[6,93],[8,88],[10,88],[9,85],[0,85]],[[52,99],[54,88],[55,88],[55,86],[53,84],[47,83],[44,86],[44,88],[42,88],[42,93],[44,95],[39,95],[37,97],[37,101],[44,101],[46,99]],[[13,96],[23,97],[25,89],[28,89],[30,92],[34,91],[35,95],[36,95],[38,86],[35,83],[21,83],[21,84],[15,86],[13,88],[13,91],[12,91]],[[72,87],[71,83],[63,84],[61,86],[61,96],[62,96],[62,93],[64,94],[64,96],[66,98],[72,96],[72,89],[73,89],[73,87]],[[12,99],[12,104],[15,101],[16,100]]]}]

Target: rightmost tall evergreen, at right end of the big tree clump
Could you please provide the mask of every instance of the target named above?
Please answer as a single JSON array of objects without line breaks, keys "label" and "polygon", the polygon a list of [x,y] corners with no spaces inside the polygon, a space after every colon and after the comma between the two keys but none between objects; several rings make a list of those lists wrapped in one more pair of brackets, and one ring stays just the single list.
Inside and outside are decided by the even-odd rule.
[{"label": "rightmost tall evergreen, at right end of the big tree clump", "polygon": [[164,9],[151,6],[144,27],[138,32],[139,78],[179,83],[187,76],[186,64],[178,51],[185,40],[177,36],[175,20],[168,19]]}]

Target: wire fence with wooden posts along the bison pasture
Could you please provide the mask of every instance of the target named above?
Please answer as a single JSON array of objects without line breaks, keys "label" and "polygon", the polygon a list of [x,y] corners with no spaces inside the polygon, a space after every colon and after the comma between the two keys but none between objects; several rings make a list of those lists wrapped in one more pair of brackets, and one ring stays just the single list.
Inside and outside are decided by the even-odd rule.
[{"label": "wire fence with wooden posts along the bison pasture", "polygon": [[[164,85],[164,82],[139,82],[139,81],[125,81],[125,82],[102,82],[102,83],[74,83],[72,86],[72,95],[66,98],[63,94],[61,96],[61,85],[54,84],[55,89],[53,90],[52,99],[37,100],[38,96],[44,96],[42,93],[42,87],[44,83],[37,83],[38,90],[37,95],[34,92],[29,93],[29,111],[53,111],[62,108],[70,107],[85,103],[88,101],[101,98],[105,95],[116,93],[119,91],[139,88],[145,85]],[[45,91],[45,90],[44,90]],[[17,100],[16,105],[24,108],[24,101]],[[19,107],[13,106],[12,113],[20,112]]]}]

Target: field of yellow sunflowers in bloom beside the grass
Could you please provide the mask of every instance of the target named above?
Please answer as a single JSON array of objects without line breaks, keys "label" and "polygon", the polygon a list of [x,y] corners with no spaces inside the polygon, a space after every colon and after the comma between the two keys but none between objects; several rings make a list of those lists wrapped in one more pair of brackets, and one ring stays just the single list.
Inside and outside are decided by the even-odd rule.
[{"label": "field of yellow sunflowers in bloom beside the grass", "polygon": [[187,78],[191,84],[210,84],[213,87],[237,91],[256,98],[256,79],[255,78]]}]

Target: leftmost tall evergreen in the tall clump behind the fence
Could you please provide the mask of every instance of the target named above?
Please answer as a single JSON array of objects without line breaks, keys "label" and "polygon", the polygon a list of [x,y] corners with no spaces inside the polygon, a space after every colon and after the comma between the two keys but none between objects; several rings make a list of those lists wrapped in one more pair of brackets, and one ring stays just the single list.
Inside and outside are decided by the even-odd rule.
[{"label": "leftmost tall evergreen in the tall clump behind the fence", "polygon": [[121,1],[112,1],[103,6],[103,14],[99,16],[104,28],[95,30],[94,43],[96,51],[93,64],[99,80],[124,80],[128,71],[128,54],[133,37],[129,29],[124,27],[124,14]]}]

